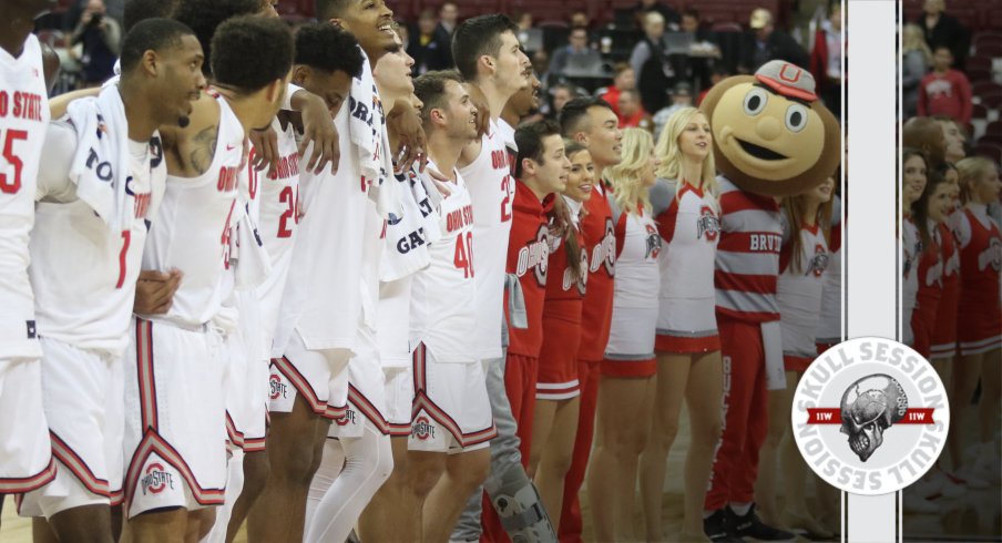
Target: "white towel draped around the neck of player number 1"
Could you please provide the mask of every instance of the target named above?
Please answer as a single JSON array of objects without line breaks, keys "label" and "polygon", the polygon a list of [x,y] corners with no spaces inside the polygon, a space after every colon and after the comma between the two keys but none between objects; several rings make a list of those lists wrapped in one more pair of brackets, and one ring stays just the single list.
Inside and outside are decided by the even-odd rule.
[{"label": "white towel draped around the neck of player number 1", "polygon": [[67,115],[76,130],[76,152],[69,173],[76,196],[109,227],[131,228],[133,208],[126,204],[126,189],[149,193],[151,182],[139,172],[130,175],[129,122],[119,88],[109,86],[96,99],[70,102]]}]

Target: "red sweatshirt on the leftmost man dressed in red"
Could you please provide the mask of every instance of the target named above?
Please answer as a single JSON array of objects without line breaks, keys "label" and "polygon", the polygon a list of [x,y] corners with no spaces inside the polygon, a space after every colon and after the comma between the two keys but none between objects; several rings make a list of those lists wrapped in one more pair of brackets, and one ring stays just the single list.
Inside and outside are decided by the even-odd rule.
[{"label": "red sweatshirt on the leftmost man dressed in red", "polygon": [[517,182],[517,187],[505,272],[515,275],[522,286],[529,327],[509,327],[508,352],[536,358],[543,345],[543,300],[546,297],[546,269],[550,265],[546,207],[553,205],[553,195],[540,202],[521,181]]}]

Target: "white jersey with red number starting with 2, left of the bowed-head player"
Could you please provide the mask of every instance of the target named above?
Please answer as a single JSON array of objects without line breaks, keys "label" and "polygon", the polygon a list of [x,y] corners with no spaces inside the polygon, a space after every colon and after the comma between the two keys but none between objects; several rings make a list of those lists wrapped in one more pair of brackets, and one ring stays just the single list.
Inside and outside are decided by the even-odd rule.
[{"label": "white jersey with red number starting with 2, left of the bowed-head player", "polygon": [[258,233],[272,260],[272,274],[258,287],[263,339],[270,355],[277,358],[283,354],[272,351],[272,337],[278,325],[278,308],[285,293],[299,225],[299,151],[292,124],[283,130],[275,119],[272,127],[278,134],[278,168],[275,175],[258,175],[257,172],[252,172],[250,175],[258,180]]}]

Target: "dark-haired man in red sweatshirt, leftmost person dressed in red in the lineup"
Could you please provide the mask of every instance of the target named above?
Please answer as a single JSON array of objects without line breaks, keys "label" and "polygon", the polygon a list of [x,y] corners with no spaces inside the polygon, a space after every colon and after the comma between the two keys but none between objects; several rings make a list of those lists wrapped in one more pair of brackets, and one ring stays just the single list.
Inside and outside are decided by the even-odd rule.
[{"label": "dark-haired man in red sweatshirt, leftmost person dressed in red in the lineup", "polygon": [[[510,327],[504,385],[512,416],[519,426],[522,464],[528,467],[550,257],[546,214],[554,205],[554,193],[566,188],[571,162],[564,153],[560,125],[554,121],[520,126],[515,131],[515,143],[519,146],[514,172],[518,188],[512,206],[507,273],[519,280],[526,326]],[[514,321],[514,316],[511,320]],[[528,475],[531,478],[532,473]]]}]

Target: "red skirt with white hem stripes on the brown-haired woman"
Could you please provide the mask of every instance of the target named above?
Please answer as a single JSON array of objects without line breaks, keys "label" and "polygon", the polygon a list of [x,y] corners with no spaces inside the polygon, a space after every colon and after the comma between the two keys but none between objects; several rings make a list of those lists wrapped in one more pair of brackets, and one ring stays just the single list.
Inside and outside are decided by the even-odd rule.
[{"label": "red skirt with white hem stripes on the brown-haired woman", "polygon": [[540,348],[536,399],[566,400],[581,393],[581,385],[577,381],[580,345],[580,318],[574,321],[543,315],[543,346]]}]

